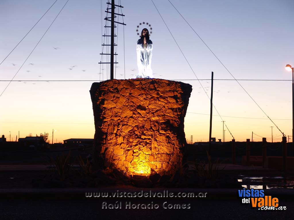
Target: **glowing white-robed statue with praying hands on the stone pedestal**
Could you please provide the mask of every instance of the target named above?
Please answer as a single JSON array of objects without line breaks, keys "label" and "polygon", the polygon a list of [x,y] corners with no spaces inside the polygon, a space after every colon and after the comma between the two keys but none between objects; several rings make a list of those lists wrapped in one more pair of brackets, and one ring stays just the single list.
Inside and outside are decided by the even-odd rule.
[{"label": "glowing white-robed statue with praying hands on the stone pedestal", "polygon": [[135,78],[153,78],[151,69],[152,49],[153,45],[149,39],[149,31],[147,28],[144,28],[141,32],[140,39],[137,41],[138,74]]}]

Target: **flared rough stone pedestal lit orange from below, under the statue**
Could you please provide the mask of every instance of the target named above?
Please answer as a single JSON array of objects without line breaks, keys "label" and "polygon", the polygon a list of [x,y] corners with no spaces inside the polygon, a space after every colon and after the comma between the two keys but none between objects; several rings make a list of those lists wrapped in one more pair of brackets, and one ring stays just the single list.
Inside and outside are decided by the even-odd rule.
[{"label": "flared rough stone pedestal lit orange from below, under the statue", "polygon": [[93,83],[94,157],[124,175],[172,175],[186,138],[184,117],[190,84],[164,79]]}]

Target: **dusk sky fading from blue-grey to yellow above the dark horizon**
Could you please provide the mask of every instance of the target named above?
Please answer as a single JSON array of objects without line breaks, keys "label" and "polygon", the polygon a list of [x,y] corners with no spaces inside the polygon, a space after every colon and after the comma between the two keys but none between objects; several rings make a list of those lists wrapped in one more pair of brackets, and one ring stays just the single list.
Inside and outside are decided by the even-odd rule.
[{"label": "dusk sky fading from blue-grey to yellow above the dark horizon", "polygon": [[[0,62],[54,1],[0,1]],[[230,73],[170,2],[153,1],[196,76],[201,79],[202,86],[208,89],[208,96],[211,71],[214,72],[214,79],[230,79],[215,80],[213,83],[213,104],[228,127],[225,127],[226,141],[232,139],[228,129],[236,141],[251,139],[252,131],[255,133],[254,141],[261,141],[261,137],[271,141],[270,126],[274,126],[274,141],[281,141],[282,133],[263,111],[287,137],[292,136],[292,76],[285,70],[285,65],[294,66],[294,1],[170,0],[236,79],[262,79],[239,83],[263,111],[235,80],[231,80]],[[11,133],[15,141],[19,132],[21,138],[29,133],[35,136],[46,132],[52,140],[54,129],[54,143],[68,138],[93,138],[95,129],[89,90],[93,82],[108,79],[106,66],[98,64],[102,52],[101,35],[104,34],[101,11],[104,26],[106,2],[69,0],[29,56],[66,3],[66,0],[57,0],[0,65],[1,94],[29,56],[14,77],[15,81],[0,97],[0,135],[4,134],[9,140]],[[126,26],[123,41],[123,26],[118,25],[115,78],[129,79],[137,73],[136,26],[143,21],[150,23],[153,28],[150,39],[153,41],[151,67],[154,78],[181,81],[193,86],[185,118],[186,139],[190,140],[193,135],[193,142],[208,141],[210,100],[152,1],[128,0],[119,3],[117,0],[116,4],[124,7],[122,13]],[[122,22],[122,18],[119,19]],[[103,52],[106,53],[105,50]],[[103,74],[99,74],[102,71]],[[273,79],[281,81],[265,81]],[[213,109],[212,137],[216,139],[223,138],[221,121]]]}]

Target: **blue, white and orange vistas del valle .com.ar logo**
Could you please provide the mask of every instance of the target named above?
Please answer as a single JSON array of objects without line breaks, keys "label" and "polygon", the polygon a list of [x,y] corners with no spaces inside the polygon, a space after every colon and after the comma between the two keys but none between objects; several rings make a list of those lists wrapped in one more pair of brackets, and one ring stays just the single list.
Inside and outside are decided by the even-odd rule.
[{"label": "blue, white and orange vistas del valle .com.ar logo", "polygon": [[286,210],[285,206],[279,206],[279,199],[265,196],[263,189],[239,189],[238,196],[242,198],[243,204],[250,204],[253,209],[258,210]]}]

